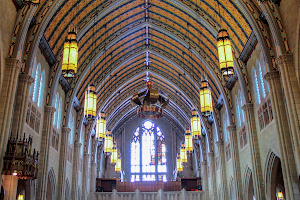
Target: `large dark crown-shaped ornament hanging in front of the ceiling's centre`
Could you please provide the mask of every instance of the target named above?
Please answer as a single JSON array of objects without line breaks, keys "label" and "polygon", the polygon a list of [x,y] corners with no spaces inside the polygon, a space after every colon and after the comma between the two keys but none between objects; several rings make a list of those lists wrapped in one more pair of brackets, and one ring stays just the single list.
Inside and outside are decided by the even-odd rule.
[{"label": "large dark crown-shaped ornament hanging in front of the ceiling's centre", "polygon": [[163,109],[169,104],[168,96],[156,89],[152,89],[152,81],[147,80],[148,89],[134,93],[132,104],[138,106],[137,114],[144,119],[158,119],[162,117]]}]

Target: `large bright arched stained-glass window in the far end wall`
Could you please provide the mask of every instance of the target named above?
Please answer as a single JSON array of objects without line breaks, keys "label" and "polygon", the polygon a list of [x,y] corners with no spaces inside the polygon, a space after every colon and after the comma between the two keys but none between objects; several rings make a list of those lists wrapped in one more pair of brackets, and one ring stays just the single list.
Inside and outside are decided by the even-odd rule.
[{"label": "large bright arched stained-glass window in the far end wall", "polygon": [[167,181],[165,137],[159,127],[146,121],[131,142],[131,181]]}]

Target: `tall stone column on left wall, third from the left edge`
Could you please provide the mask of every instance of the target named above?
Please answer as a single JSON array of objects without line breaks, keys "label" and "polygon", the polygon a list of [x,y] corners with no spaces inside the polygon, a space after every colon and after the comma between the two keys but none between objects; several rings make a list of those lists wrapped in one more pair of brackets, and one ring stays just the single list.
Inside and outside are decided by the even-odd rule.
[{"label": "tall stone column on left wall, third from the left edge", "polygon": [[54,107],[45,106],[42,141],[41,141],[41,149],[40,149],[40,156],[39,156],[38,190],[37,190],[36,199],[46,199],[49,151],[50,151],[50,144],[52,139],[51,134],[52,134],[54,112],[55,112]]}]

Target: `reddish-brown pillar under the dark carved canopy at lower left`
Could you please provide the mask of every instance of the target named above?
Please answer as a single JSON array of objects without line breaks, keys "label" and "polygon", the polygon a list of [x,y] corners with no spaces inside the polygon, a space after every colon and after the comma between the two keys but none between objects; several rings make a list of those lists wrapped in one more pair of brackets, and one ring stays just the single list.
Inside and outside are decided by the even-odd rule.
[{"label": "reddish-brown pillar under the dark carved canopy at lower left", "polygon": [[4,200],[16,200],[18,177],[13,175],[3,175],[3,186],[5,189]]}]

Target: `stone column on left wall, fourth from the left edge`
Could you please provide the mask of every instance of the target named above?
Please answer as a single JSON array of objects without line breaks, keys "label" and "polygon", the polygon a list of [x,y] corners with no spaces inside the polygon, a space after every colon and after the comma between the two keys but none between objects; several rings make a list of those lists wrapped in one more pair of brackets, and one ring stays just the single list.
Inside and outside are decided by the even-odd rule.
[{"label": "stone column on left wall, fourth from the left edge", "polygon": [[59,155],[59,170],[58,170],[58,199],[65,199],[66,191],[66,166],[67,166],[67,154],[69,144],[69,133],[71,129],[69,127],[62,127],[61,142],[60,142],[60,155]]}]

